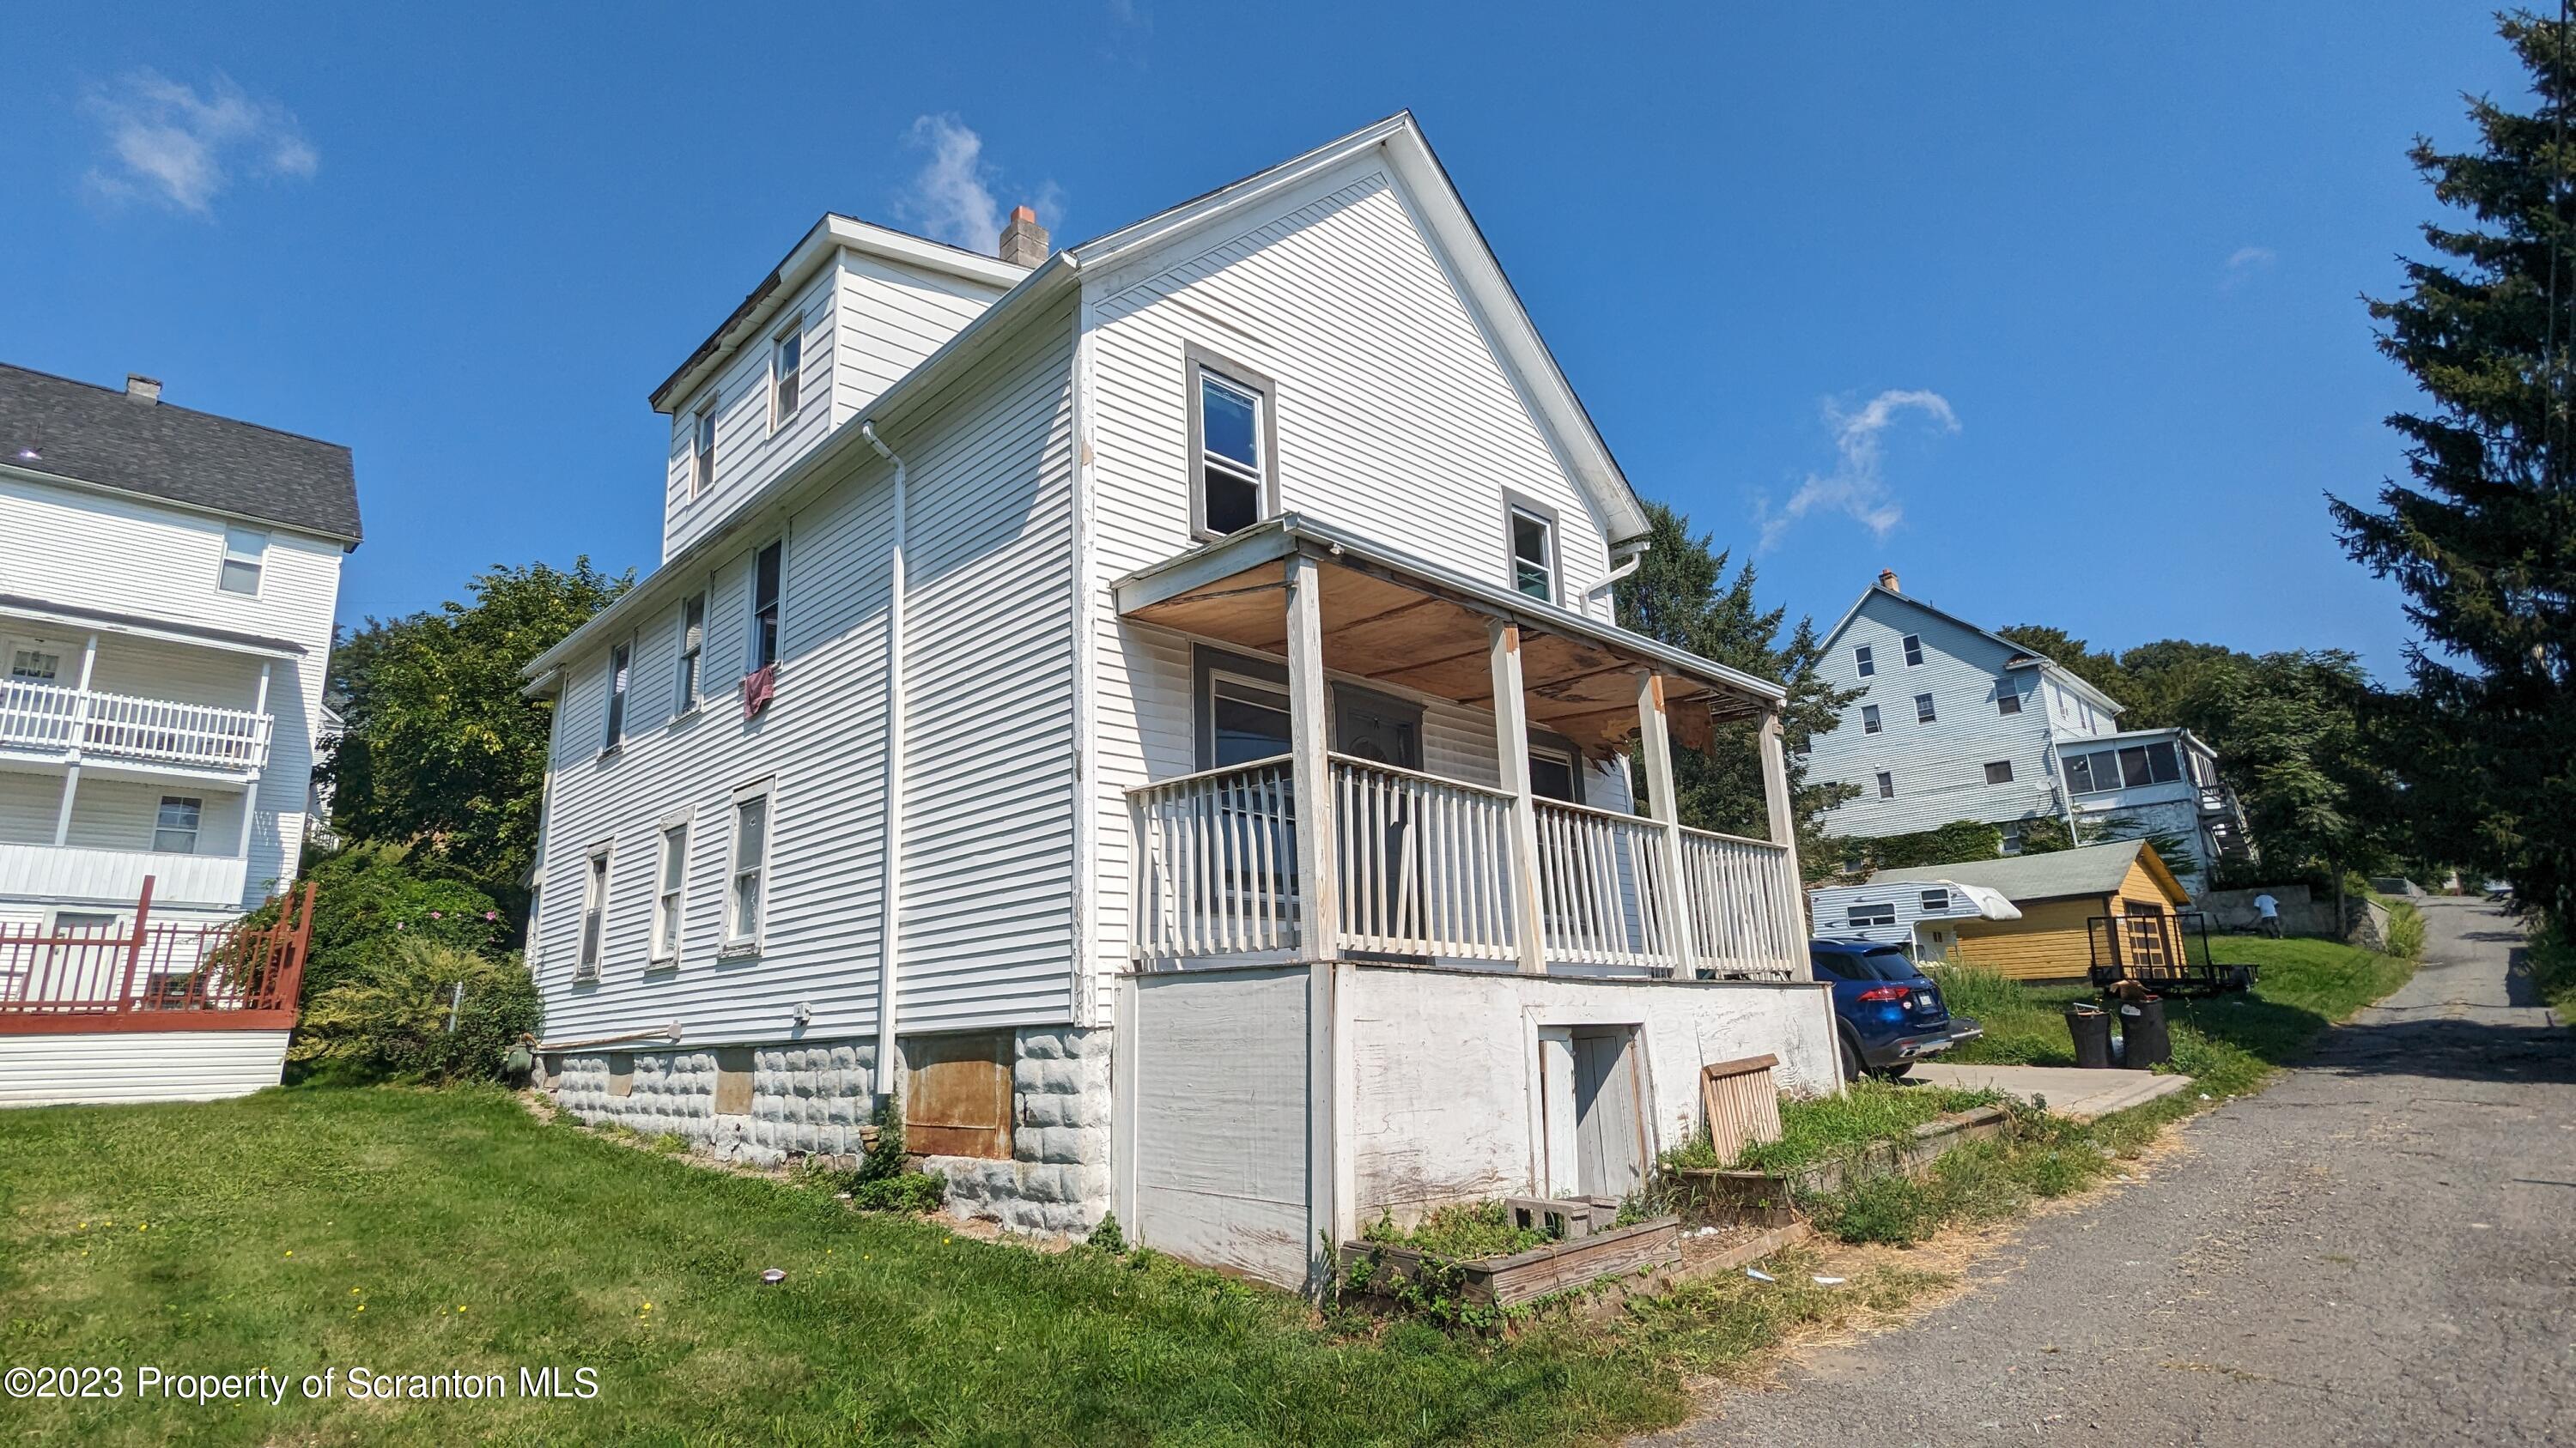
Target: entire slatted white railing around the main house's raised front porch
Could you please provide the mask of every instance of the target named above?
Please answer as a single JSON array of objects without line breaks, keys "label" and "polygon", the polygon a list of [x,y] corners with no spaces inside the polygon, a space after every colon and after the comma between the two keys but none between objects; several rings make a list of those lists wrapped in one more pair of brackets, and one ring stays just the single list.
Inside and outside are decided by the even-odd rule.
[{"label": "entire slatted white railing around the main house's raised front porch", "polygon": [[[1278,757],[1128,791],[1139,958],[1296,956],[1303,917],[1291,773]],[[1510,794],[1347,755],[1332,755],[1329,778],[1340,951],[1517,958]],[[1535,824],[1548,961],[1772,979],[1803,964],[1806,928],[1780,845],[1682,830],[1682,902],[1672,902],[1662,824],[1556,801],[1535,801]],[[1685,951],[1685,910],[1695,951]]]}]

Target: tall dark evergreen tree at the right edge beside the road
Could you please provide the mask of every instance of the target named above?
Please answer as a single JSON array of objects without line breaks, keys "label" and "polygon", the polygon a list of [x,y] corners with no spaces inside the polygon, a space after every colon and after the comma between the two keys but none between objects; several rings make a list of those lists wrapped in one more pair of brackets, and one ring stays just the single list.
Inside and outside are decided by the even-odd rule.
[{"label": "tall dark evergreen tree at the right edge beside the road", "polygon": [[2576,250],[2568,100],[2576,46],[2555,21],[2499,23],[2537,108],[2468,106],[2478,144],[2416,139],[2414,167],[2452,216],[2434,260],[2370,301],[2380,350],[2429,407],[2388,423],[2409,479],[2378,510],[2334,500],[2344,549],[2406,590],[2429,647],[2391,729],[2411,742],[2419,853],[2468,861],[2576,917]]}]

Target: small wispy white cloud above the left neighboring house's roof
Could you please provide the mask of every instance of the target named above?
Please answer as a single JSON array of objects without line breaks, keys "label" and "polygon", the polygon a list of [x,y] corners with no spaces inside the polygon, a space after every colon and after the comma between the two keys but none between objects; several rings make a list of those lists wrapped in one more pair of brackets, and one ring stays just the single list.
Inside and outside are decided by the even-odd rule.
[{"label": "small wispy white cloud above the left neighboring house's roof", "polygon": [[90,191],[118,201],[147,198],[211,216],[234,175],[304,180],[322,167],[294,113],[255,100],[229,75],[198,93],[157,70],[137,70],[93,88],[82,108],[98,119],[108,149],[106,165],[90,167]]}]

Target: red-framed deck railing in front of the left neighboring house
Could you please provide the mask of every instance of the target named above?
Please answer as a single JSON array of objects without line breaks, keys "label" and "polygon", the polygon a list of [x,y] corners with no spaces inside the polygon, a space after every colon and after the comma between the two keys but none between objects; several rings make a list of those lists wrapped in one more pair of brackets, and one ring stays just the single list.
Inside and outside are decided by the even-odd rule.
[{"label": "red-framed deck railing in front of the left neighboring house", "polygon": [[286,1031],[312,943],[314,886],[276,925],[165,925],[144,876],[131,925],[0,925],[0,1036]]}]

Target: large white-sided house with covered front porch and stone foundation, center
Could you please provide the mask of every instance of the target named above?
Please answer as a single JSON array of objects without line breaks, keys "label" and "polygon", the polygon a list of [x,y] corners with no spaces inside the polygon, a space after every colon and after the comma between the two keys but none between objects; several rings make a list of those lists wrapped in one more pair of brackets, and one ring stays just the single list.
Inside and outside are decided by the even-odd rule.
[{"label": "large white-sided house with covered front porch and stone foundation, center", "polygon": [[[1631,812],[1780,688],[1615,626],[1643,508],[1412,116],[1072,250],[824,216],[654,392],[665,559],[536,660],[585,1118],[1280,1283],[1837,1090],[1788,845]],[[1672,791],[1654,788],[1654,799]],[[899,1067],[899,1069],[881,1069]]]}]

